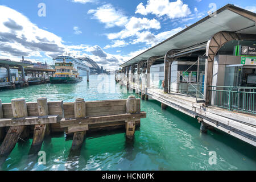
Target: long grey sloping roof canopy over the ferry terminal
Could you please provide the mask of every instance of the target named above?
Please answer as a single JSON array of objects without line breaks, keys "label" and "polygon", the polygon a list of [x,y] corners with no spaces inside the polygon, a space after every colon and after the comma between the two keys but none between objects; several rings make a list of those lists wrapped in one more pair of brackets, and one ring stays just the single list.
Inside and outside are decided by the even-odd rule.
[{"label": "long grey sloping roof canopy over the ferry terminal", "polygon": [[126,67],[127,65],[147,60],[151,56],[164,56],[171,49],[183,49],[207,42],[214,34],[220,31],[256,34],[255,21],[255,13],[234,5],[226,5],[217,10],[215,15],[213,13],[206,16],[120,66]]}]

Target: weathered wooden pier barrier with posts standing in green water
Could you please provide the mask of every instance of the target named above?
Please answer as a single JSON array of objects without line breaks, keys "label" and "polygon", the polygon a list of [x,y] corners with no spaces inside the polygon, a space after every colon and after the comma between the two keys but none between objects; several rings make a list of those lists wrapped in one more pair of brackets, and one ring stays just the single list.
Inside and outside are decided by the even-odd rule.
[{"label": "weathered wooden pier barrier with posts standing in green water", "polygon": [[[126,128],[127,138],[133,139],[141,118],[146,118],[146,113],[141,111],[141,100],[135,96],[129,96],[127,100],[87,102],[78,98],[66,103],[47,102],[47,98],[27,103],[24,98],[13,99],[11,103],[0,101],[0,129],[10,127],[7,134],[3,130],[5,138],[0,146],[0,156],[10,154],[26,128],[34,133],[31,149],[40,149],[44,136],[49,134],[47,125],[51,125],[51,133],[66,131],[74,134],[71,151],[75,151],[81,148],[87,132],[100,134],[101,131]],[[34,153],[34,150],[29,152]]]}]

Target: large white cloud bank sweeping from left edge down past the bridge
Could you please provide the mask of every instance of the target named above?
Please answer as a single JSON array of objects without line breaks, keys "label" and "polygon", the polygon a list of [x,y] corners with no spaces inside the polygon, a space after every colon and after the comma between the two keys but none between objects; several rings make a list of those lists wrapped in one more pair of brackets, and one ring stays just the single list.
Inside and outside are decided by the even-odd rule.
[{"label": "large white cloud bank sweeping from left edge down past the bridge", "polygon": [[[99,46],[89,46],[86,44],[67,46],[63,40],[46,30],[43,30],[31,23],[30,20],[18,11],[6,6],[0,6],[0,12],[5,16],[0,16],[0,57],[19,61],[21,56],[26,60],[34,62],[51,60],[68,52],[76,57],[86,56],[96,61],[106,69],[118,68],[125,58],[120,55],[112,55],[104,52]],[[92,53],[88,55],[86,52]],[[42,57],[42,60],[31,59],[32,56]]]}]

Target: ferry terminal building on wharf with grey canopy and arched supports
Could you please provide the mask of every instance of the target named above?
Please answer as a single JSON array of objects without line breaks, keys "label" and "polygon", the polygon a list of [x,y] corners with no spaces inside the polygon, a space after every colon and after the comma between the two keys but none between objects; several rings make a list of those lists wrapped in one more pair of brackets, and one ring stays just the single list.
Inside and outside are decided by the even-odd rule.
[{"label": "ferry terminal building on wharf with grey canopy and arched supports", "polygon": [[115,80],[256,146],[256,14],[226,5],[120,65]]}]

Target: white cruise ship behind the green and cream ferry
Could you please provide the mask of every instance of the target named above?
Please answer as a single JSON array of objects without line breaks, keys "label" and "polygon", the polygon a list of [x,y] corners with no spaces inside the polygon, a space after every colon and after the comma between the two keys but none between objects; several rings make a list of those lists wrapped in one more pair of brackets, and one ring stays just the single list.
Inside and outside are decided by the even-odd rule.
[{"label": "white cruise ship behind the green and cream ferry", "polygon": [[86,71],[90,72],[90,68],[82,63],[81,60],[76,59],[75,57],[71,55],[59,55],[53,59],[56,62],[63,62],[65,63],[73,63],[73,66],[77,71],[79,72],[80,76],[86,76]]}]

